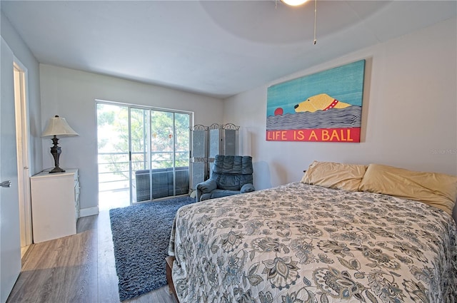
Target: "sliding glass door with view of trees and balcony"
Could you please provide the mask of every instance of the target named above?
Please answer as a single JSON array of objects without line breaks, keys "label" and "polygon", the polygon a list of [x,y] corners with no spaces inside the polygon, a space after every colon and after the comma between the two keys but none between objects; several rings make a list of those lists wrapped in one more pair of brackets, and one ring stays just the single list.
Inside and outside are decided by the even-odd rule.
[{"label": "sliding glass door with view of trees and balcony", "polygon": [[100,196],[128,188],[130,204],[189,193],[191,113],[99,102],[97,116]]}]

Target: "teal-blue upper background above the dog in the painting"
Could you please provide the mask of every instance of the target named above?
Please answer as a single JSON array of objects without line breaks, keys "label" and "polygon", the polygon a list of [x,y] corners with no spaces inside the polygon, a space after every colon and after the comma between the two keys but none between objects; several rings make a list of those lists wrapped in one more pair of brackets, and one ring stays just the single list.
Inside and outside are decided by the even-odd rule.
[{"label": "teal-blue upper background above the dog in the painting", "polygon": [[365,60],[361,60],[270,86],[266,116],[273,115],[276,108],[282,108],[283,114],[293,114],[294,106],[320,93],[353,106],[362,106],[364,70]]}]

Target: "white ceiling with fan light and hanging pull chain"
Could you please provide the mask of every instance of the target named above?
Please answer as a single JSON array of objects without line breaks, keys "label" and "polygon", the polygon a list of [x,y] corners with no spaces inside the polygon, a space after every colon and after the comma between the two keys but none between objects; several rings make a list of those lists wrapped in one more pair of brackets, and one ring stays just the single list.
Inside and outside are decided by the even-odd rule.
[{"label": "white ceiling with fan light and hanging pull chain", "polygon": [[456,1],[4,1],[40,63],[226,98],[456,16]]}]

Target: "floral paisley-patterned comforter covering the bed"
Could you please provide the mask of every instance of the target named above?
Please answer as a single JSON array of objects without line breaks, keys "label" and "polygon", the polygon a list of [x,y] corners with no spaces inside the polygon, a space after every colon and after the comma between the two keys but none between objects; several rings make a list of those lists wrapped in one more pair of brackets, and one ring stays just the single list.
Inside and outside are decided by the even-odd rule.
[{"label": "floral paisley-patterned comforter covering the bed", "polygon": [[181,303],[457,302],[457,227],[421,202],[303,183],[175,217]]}]

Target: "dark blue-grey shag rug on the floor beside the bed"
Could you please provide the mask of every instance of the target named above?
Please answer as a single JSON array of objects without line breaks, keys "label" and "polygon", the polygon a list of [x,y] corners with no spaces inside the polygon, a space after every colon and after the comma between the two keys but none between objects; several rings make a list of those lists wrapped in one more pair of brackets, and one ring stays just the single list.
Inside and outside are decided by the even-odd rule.
[{"label": "dark blue-grey shag rug on the floor beside the bed", "polygon": [[195,201],[176,197],[109,211],[121,301],[166,285],[165,257],[174,216],[179,207]]}]

